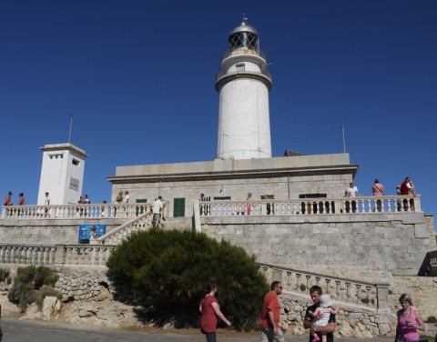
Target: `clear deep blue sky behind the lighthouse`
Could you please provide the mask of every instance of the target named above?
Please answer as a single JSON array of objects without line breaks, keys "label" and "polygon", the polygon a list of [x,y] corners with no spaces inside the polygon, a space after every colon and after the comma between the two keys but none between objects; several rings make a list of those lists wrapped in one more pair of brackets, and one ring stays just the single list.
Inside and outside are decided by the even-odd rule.
[{"label": "clear deep blue sky behind the lighthouse", "polygon": [[36,203],[39,147],[66,143],[71,115],[92,202],[110,199],[116,166],[213,160],[215,75],[242,13],[273,76],[273,155],[340,153],[344,125],[361,195],[376,177],[394,194],[411,176],[434,214],[431,0],[3,0],[0,192]]}]

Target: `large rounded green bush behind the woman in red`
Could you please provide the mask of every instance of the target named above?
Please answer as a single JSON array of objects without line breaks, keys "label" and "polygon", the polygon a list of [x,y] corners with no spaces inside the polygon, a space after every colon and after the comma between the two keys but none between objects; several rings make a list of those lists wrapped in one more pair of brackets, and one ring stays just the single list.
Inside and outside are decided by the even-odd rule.
[{"label": "large rounded green bush behind the woman in red", "polygon": [[[258,327],[269,291],[255,257],[228,242],[194,231],[151,229],[132,234],[107,261],[117,288],[136,290],[158,325],[197,327],[198,304],[208,282],[219,287],[222,312],[238,329]],[[147,306],[152,298],[153,307]]]}]

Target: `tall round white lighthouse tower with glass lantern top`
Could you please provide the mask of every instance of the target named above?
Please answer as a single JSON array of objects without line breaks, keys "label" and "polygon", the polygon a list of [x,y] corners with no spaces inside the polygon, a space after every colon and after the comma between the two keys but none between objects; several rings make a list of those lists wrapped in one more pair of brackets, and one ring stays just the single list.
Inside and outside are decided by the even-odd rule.
[{"label": "tall round white lighthouse tower with glass lantern top", "polygon": [[271,157],[271,75],[259,50],[258,32],[242,22],[229,35],[229,50],[216,77],[219,92],[218,158]]}]

